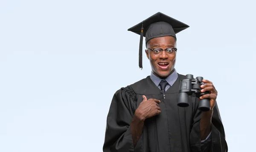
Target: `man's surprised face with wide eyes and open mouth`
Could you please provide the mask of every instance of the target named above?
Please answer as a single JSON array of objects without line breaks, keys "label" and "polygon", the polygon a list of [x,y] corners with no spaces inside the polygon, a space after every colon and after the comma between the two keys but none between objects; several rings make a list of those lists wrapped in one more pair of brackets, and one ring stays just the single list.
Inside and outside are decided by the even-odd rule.
[{"label": "man's surprised face with wide eyes and open mouth", "polygon": [[159,57],[156,57],[150,49],[176,48],[175,38],[171,36],[166,36],[151,39],[148,41],[147,48],[149,51],[145,50],[145,52],[150,61],[151,69],[154,75],[160,78],[166,78],[171,75],[175,67],[176,52],[174,52],[174,55],[172,57],[169,57],[167,56],[166,51],[163,51],[163,53]]}]

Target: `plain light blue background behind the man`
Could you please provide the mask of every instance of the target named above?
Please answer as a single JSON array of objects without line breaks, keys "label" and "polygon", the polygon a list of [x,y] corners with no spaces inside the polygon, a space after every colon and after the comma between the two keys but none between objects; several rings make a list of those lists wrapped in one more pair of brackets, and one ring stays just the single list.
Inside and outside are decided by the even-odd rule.
[{"label": "plain light blue background behind the man", "polygon": [[[163,12],[175,68],[211,80],[229,152],[255,149],[253,0],[0,0],[0,152],[101,152],[117,89],[150,75],[127,29]],[[145,49],[145,45],[143,45]]]}]

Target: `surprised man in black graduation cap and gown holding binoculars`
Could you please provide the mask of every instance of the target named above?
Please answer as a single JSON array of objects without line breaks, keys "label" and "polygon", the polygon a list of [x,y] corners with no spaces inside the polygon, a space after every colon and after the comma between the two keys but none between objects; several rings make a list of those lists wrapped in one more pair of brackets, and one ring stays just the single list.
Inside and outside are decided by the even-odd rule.
[{"label": "surprised man in black graduation cap and gown holding binoculars", "polygon": [[227,152],[224,127],[216,103],[217,90],[209,80],[200,99],[210,99],[210,110],[198,110],[198,99],[189,96],[189,106],[177,106],[180,80],[175,69],[176,34],[184,23],[158,12],[128,29],[140,34],[150,60],[151,75],[119,89],[113,96],[107,118],[103,152]]}]

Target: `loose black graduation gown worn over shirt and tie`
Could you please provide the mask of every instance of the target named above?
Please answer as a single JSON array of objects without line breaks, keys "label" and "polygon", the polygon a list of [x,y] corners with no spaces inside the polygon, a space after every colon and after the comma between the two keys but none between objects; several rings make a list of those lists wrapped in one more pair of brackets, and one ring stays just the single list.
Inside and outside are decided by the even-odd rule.
[{"label": "loose black graduation gown worn over shirt and tie", "polygon": [[[188,107],[177,106],[180,80],[185,78],[178,74],[173,86],[166,91],[165,99],[150,76],[119,89],[113,96],[107,116],[103,152],[227,152],[217,103],[213,109],[208,149],[201,143],[202,112],[198,110],[198,98],[191,95]],[[160,100],[161,113],[145,120],[143,133],[134,146],[130,123],[143,95],[147,99]]]}]

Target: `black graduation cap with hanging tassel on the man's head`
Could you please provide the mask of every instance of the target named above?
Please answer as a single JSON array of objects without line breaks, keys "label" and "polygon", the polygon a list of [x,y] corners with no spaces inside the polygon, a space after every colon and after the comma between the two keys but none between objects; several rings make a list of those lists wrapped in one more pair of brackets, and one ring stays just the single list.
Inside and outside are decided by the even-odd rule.
[{"label": "black graduation cap with hanging tassel on the man's head", "polygon": [[175,20],[172,17],[167,16],[161,12],[158,12],[141,23],[131,27],[128,31],[134,32],[140,35],[140,47],[139,47],[139,67],[142,69],[142,45],[143,37],[145,37],[146,44],[149,40],[156,37],[172,36],[176,39],[176,34],[189,26]]}]

